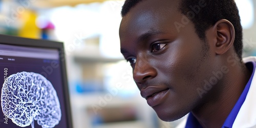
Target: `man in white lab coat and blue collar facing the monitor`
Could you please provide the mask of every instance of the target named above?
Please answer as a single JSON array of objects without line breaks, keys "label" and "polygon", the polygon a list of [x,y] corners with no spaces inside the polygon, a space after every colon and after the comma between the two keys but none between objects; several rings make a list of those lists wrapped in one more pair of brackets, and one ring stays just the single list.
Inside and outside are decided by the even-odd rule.
[{"label": "man in white lab coat and blue collar facing the monitor", "polygon": [[233,0],[126,0],[121,13],[121,53],[160,119],[256,127],[256,59],[242,61]]}]

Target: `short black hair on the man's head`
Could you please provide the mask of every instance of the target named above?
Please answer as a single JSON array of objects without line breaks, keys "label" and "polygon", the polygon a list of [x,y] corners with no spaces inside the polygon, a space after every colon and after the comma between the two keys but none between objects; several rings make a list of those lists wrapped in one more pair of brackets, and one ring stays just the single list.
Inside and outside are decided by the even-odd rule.
[{"label": "short black hair on the man's head", "polygon": [[[122,7],[121,15],[125,16],[131,8],[136,6],[142,0],[126,0]],[[189,18],[195,25],[196,33],[200,39],[206,40],[205,32],[211,26],[215,25],[220,19],[227,19],[234,26],[236,36],[234,38],[234,50],[240,60],[242,60],[243,49],[243,32],[239,11],[234,0],[181,0],[179,11],[187,15],[189,11],[193,11],[191,7],[195,7],[199,2],[205,2],[206,6],[200,8],[197,14]],[[187,16],[189,17],[189,16]]]}]

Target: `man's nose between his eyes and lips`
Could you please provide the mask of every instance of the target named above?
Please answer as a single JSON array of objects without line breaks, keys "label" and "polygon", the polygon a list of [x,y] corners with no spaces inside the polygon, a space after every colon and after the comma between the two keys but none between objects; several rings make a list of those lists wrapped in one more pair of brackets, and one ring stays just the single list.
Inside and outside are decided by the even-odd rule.
[{"label": "man's nose between his eyes and lips", "polygon": [[147,79],[152,79],[156,75],[157,72],[150,61],[146,58],[137,58],[133,71],[133,78],[137,84],[143,83]]}]

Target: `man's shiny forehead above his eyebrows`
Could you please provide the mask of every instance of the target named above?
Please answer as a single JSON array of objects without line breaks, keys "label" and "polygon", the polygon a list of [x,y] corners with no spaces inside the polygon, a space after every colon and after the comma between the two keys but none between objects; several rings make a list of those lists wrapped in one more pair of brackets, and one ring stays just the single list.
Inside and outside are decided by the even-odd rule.
[{"label": "man's shiny forehead above his eyebrows", "polygon": [[138,3],[130,12],[123,16],[120,24],[120,33],[125,32],[127,34],[127,30],[131,30],[131,27],[134,27],[133,31],[142,30],[144,27],[154,27],[154,24],[173,17],[178,12],[178,1],[148,0]]}]

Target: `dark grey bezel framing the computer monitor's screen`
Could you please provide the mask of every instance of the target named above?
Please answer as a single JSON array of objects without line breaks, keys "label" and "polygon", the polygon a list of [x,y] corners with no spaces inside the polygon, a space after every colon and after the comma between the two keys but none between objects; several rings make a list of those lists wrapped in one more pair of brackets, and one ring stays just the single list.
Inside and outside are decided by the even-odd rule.
[{"label": "dark grey bezel framing the computer monitor's screen", "polygon": [[0,34],[0,44],[3,45],[12,45],[12,46],[24,46],[31,48],[48,48],[48,49],[57,49],[59,51],[60,57],[60,66],[61,66],[61,75],[63,83],[63,92],[65,93],[65,105],[67,113],[67,126],[73,127],[72,124],[72,114],[71,114],[71,104],[70,104],[70,94],[68,87],[68,77],[66,70],[66,58],[65,58],[65,49],[63,42],[53,41],[53,40],[44,40],[44,39],[32,39],[25,37],[18,37],[12,35]]}]

